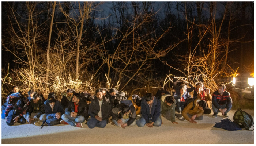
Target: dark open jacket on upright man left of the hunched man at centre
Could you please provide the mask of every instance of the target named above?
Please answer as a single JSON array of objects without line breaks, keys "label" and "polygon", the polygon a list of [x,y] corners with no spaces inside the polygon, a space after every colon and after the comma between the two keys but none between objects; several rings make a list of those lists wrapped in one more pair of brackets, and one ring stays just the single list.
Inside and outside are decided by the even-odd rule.
[{"label": "dark open jacket on upright man left of the hunched man at centre", "polygon": [[[103,101],[102,101],[102,104],[101,104],[101,115],[102,115],[102,120],[106,120],[106,122],[108,123],[108,118],[110,117],[110,111],[111,111],[111,105],[109,103],[109,100],[106,99],[105,96],[102,97]],[[98,113],[99,113],[99,101],[97,98],[95,98],[91,104],[90,104],[90,107],[89,107],[89,111],[88,111],[88,114],[89,116],[91,117],[95,117],[95,116],[98,116]]]}]

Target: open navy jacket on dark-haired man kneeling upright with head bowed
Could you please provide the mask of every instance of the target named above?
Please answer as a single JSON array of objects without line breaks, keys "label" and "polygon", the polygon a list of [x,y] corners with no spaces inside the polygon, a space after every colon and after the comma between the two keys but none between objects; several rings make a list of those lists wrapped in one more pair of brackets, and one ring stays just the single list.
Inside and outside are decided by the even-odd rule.
[{"label": "open navy jacket on dark-haired man kneeling upright with head bowed", "polygon": [[152,118],[152,122],[155,122],[157,120],[157,118],[160,116],[161,114],[161,103],[159,100],[157,100],[157,98],[154,97],[154,101],[152,103],[152,107],[151,107],[151,113],[149,113],[149,106],[146,102],[145,99],[142,100],[141,102],[141,113],[142,116],[145,118],[146,123],[149,123],[149,119]]}]

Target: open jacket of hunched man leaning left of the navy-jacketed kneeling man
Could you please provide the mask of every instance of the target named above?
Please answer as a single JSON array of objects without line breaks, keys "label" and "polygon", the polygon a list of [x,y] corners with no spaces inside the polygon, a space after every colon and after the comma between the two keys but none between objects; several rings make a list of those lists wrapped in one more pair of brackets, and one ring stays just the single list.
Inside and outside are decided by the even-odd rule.
[{"label": "open jacket of hunched man leaning left of the navy-jacketed kneeling man", "polygon": [[[112,116],[112,119],[118,121],[119,119],[122,119],[124,114],[122,113],[122,107],[124,106],[124,103],[120,103],[117,105],[116,108],[113,108],[110,111],[110,114]],[[136,118],[136,110],[135,107],[133,107],[133,105],[130,106],[131,112],[129,113],[129,120],[127,121],[127,126],[129,126],[130,124],[132,124],[135,121]]]}]

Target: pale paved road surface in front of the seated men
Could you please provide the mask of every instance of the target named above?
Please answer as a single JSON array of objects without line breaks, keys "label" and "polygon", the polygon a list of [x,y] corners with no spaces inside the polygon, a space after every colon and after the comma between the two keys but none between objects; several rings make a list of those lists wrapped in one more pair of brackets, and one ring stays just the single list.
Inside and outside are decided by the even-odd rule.
[{"label": "pale paved road surface in front of the seated men", "polygon": [[[236,110],[228,115],[233,121]],[[245,110],[254,118],[254,110]],[[188,121],[176,122],[163,119],[160,127],[130,126],[119,128],[108,124],[105,128],[89,129],[70,125],[45,126],[42,129],[33,124],[7,126],[2,119],[2,144],[254,144],[254,131],[227,131],[214,128],[215,122],[224,119],[221,114],[212,118],[203,115],[197,124]]]}]

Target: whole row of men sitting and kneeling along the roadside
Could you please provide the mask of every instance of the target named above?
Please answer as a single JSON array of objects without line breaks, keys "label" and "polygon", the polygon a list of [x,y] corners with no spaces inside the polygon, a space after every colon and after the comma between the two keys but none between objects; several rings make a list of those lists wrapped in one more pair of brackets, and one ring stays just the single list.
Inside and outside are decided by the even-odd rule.
[{"label": "whole row of men sitting and kneeling along the roadside", "polygon": [[[191,88],[187,88],[186,84]],[[61,99],[51,92],[45,100],[42,94],[33,90],[25,98],[15,86],[2,106],[2,118],[9,126],[16,122],[29,122],[42,127],[56,124],[83,127],[85,122],[89,128],[104,128],[112,121],[113,125],[122,128],[143,127],[145,124],[153,127],[161,126],[162,117],[173,124],[178,124],[176,118],[197,123],[195,120],[203,120],[203,114],[211,113],[209,101],[212,101],[212,117],[216,118],[221,112],[229,118],[227,113],[232,107],[232,99],[224,84],[220,84],[212,95],[202,82],[197,82],[195,88],[180,81],[174,84],[174,88],[173,94],[159,90],[155,96],[147,93],[143,97],[132,95],[128,98],[124,92],[114,88],[97,89],[94,96],[68,89]],[[189,95],[191,91],[194,91],[193,98]]]}]

